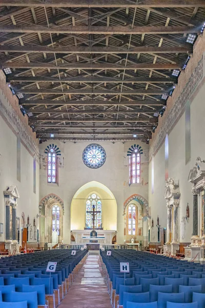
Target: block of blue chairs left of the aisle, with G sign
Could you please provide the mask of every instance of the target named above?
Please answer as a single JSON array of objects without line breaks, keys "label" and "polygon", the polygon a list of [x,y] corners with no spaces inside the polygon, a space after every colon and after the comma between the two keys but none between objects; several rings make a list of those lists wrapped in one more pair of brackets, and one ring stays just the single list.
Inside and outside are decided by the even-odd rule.
[{"label": "block of blue chairs left of the aisle, with G sign", "polygon": [[[47,307],[46,298],[52,297],[55,308],[56,304],[60,304],[60,294],[63,298],[64,291],[67,293],[78,271],[79,262],[87,252],[77,250],[76,255],[71,256],[71,249],[56,249],[0,259],[0,307],[12,306],[13,302],[16,307],[18,302],[22,304],[20,307]],[[46,272],[49,261],[57,262],[54,273]]]}]

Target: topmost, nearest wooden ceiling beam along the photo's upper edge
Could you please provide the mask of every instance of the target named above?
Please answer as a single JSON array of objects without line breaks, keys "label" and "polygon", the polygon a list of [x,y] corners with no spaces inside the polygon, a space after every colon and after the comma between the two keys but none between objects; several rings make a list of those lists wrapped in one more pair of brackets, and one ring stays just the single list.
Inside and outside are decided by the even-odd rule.
[{"label": "topmost, nearest wooden ceiling beam along the photo's upper edge", "polygon": [[55,7],[55,8],[184,8],[205,7],[204,0],[0,0],[0,6]]}]

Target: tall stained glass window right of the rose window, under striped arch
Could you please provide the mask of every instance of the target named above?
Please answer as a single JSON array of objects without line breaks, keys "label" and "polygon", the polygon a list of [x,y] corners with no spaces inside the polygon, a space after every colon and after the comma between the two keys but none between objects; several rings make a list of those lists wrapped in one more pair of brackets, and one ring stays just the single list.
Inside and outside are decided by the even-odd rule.
[{"label": "tall stained glass window right of the rose window, under striped arch", "polygon": [[130,156],[130,184],[140,183],[140,152],[134,149]]}]

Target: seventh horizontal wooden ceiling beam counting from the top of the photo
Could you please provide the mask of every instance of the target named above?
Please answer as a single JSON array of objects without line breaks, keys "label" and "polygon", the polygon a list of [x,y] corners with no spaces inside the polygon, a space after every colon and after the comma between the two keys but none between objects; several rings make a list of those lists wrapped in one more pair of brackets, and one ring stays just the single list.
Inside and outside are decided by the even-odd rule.
[{"label": "seventh horizontal wooden ceiling beam counting from the top of the photo", "polygon": [[122,100],[122,101],[116,101],[116,100],[111,100],[111,101],[98,101],[98,100],[80,100],[80,101],[56,101],[56,100],[19,100],[20,105],[105,105],[105,106],[113,106],[113,105],[125,105],[125,106],[163,106],[165,105],[166,101],[151,101],[151,100],[134,100],[134,101],[128,101],[128,100]]}]

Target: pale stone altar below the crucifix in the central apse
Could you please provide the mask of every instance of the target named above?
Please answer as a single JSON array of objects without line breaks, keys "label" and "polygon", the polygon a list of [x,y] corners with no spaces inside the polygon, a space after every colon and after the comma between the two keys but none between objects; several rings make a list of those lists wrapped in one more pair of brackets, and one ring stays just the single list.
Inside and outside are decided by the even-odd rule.
[{"label": "pale stone altar below the crucifix in the central apse", "polygon": [[71,238],[74,239],[72,244],[88,244],[88,243],[96,243],[96,244],[112,244],[112,239],[116,235],[115,230],[98,230],[96,237],[91,237],[92,229],[87,230],[72,230]]}]

